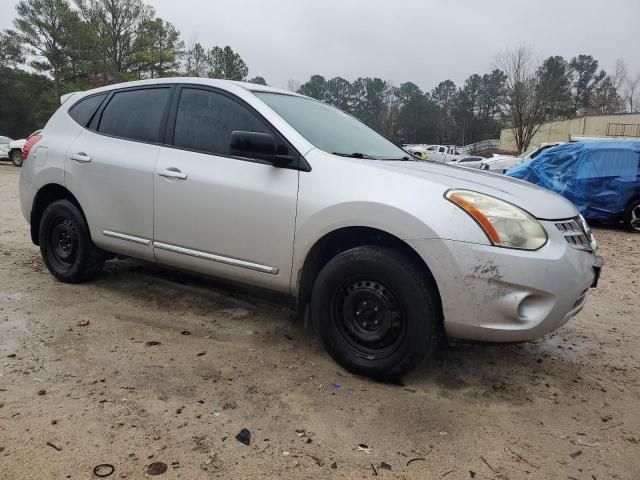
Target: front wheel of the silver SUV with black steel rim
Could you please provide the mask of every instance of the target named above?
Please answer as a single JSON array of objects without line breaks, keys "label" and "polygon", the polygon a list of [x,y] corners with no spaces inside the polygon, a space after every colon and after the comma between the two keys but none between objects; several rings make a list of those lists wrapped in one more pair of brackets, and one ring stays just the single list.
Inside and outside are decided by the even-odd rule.
[{"label": "front wheel of the silver SUV with black steel rim", "polygon": [[324,266],[311,317],[329,354],[347,370],[397,379],[433,353],[442,314],[433,277],[390,248],[356,247]]}]

